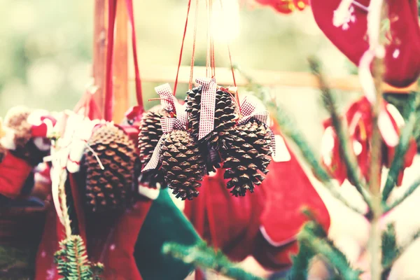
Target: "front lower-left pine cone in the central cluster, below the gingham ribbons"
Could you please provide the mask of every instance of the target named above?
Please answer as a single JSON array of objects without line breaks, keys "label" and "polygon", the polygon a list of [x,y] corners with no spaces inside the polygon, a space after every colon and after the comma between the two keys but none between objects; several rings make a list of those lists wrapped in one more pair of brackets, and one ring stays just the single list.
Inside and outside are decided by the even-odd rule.
[{"label": "front lower-left pine cone in the central cluster, below the gingham ribbons", "polygon": [[162,169],[169,188],[182,200],[197,197],[205,172],[204,159],[193,135],[173,130],[162,145]]}]

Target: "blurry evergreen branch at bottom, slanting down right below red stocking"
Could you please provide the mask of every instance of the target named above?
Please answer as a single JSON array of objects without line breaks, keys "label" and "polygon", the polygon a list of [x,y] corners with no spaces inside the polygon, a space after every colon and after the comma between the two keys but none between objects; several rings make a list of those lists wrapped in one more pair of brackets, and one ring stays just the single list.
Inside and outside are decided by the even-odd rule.
[{"label": "blurry evergreen branch at bottom, slanting down right below red stocking", "polygon": [[326,232],[316,221],[309,221],[304,225],[302,231],[297,235],[300,244],[304,244],[313,252],[322,255],[332,267],[334,267],[342,279],[356,280],[362,273],[358,269],[353,269],[349,264],[344,253],[330,241]]}]

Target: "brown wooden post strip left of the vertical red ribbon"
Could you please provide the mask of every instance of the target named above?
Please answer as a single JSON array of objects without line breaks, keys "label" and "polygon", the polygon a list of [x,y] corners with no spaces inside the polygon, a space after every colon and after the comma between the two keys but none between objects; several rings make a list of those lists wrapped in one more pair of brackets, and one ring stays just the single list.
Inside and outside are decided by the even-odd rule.
[{"label": "brown wooden post strip left of the vertical red ribbon", "polygon": [[107,1],[94,1],[94,31],[93,31],[93,62],[92,72],[97,92],[94,100],[104,117],[105,71],[106,71],[106,27],[107,27]]}]

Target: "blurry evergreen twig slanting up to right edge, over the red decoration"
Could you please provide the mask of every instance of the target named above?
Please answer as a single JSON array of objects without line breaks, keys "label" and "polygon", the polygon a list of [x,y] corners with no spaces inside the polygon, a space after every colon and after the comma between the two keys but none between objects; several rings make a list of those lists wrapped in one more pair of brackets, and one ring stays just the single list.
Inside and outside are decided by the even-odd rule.
[{"label": "blurry evergreen twig slanting up to right edge, over the red decoration", "polygon": [[416,125],[416,107],[420,101],[419,94],[412,94],[412,98],[409,100],[409,117],[406,125],[401,130],[400,141],[398,142],[397,148],[395,148],[395,156],[391,164],[391,168],[388,172],[388,177],[386,178],[386,183],[384,190],[382,191],[382,201],[386,202],[391,191],[393,190],[398,175],[402,169],[402,165],[405,161],[405,154],[407,153],[409,147],[409,140],[412,137],[414,127]]}]

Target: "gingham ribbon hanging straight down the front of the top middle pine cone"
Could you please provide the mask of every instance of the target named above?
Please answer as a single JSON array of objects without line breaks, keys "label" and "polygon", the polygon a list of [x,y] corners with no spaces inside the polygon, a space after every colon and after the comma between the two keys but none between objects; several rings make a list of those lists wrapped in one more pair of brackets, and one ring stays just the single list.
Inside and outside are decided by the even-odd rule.
[{"label": "gingham ribbon hanging straight down the front of the top middle pine cone", "polygon": [[198,129],[198,140],[200,140],[214,130],[217,85],[214,78],[197,78],[195,83],[202,86],[200,125]]}]

